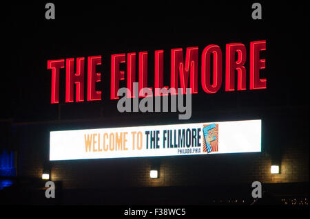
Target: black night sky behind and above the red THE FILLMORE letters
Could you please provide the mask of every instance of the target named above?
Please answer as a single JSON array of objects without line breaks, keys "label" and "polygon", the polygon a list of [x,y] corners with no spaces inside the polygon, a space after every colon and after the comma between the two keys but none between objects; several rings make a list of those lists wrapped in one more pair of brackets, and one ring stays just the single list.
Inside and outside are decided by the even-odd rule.
[{"label": "black night sky behind and above the red THE FILLMORE letters", "polygon": [[[178,1],[147,4],[53,2],[56,6],[54,21],[45,20],[47,2],[44,1],[10,3],[3,7],[1,93],[5,104],[1,107],[2,118],[13,118],[15,122],[57,119],[58,106],[50,104],[51,73],[46,69],[49,59],[101,55],[103,65],[98,71],[102,83],[98,88],[102,90],[103,100],[64,104],[61,106],[62,117],[99,117],[101,110],[103,117],[116,118],[121,113],[117,111],[116,101],[110,100],[111,54],[149,51],[148,85],[153,87],[156,49],[165,50],[164,84],[169,84],[169,49],[182,47],[184,51],[186,47],[198,46],[200,56],[207,45],[216,44],[225,55],[226,43],[244,43],[249,77],[249,42],[259,40],[267,40],[267,51],[261,55],[266,58],[266,69],[261,71],[261,76],[267,78],[267,89],[225,92],[223,76],[220,91],[207,94],[200,85],[199,67],[192,119],[199,120],[202,114],[210,119],[242,119],[242,115],[245,115],[244,119],[271,117],[274,111],[287,108],[292,108],[288,113],[293,114],[309,112],[307,1],[294,5],[260,1],[262,21],[251,19],[251,4],[254,3],[251,1],[189,1],[186,4]],[[64,71],[61,75],[64,82]],[[63,85],[60,100],[64,103]],[[122,85],[125,84],[121,83],[120,87]],[[269,114],[271,111],[273,113]],[[211,116],[207,117],[209,114]],[[147,114],[123,116],[129,115]],[[177,119],[175,113],[172,117]]]}]

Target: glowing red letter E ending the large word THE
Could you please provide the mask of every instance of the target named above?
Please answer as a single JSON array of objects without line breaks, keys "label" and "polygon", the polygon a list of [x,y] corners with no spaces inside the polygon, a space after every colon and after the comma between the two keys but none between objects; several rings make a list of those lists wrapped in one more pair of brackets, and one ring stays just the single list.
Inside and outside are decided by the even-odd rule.
[{"label": "glowing red letter E ending the large word THE", "polygon": [[96,91],[96,82],[101,81],[101,73],[96,66],[101,65],[101,56],[87,58],[87,101],[101,100],[101,91]]}]

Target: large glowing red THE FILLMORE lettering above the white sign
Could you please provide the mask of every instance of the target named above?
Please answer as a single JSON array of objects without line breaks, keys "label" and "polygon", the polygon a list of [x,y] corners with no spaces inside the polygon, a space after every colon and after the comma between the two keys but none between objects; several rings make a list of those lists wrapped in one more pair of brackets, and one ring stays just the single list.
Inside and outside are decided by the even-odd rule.
[{"label": "large glowing red THE FILLMORE lettering above the white sign", "polygon": [[[260,69],[265,69],[265,59],[260,58],[260,51],[266,50],[266,41],[251,41],[249,45],[249,57],[247,57],[246,47],[242,43],[229,43],[225,48],[225,61],[223,61],[222,49],[218,45],[208,45],[201,54],[201,63],[198,63],[198,47],[187,47],[171,49],[170,56],[170,88],[172,95],[178,94],[178,84],[183,93],[186,88],[191,89],[191,93],[198,93],[198,65],[200,65],[201,87],[205,93],[216,93],[223,84],[223,62],[225,62],[225,91],[245,91],[246,82],[249,80],[249,89],[266,89],[267,79],[260,77]],[[164,51],[156,50],[154,69],[154,96],[162,95],[158,89],[168,86],[163,84],[163,60]],[[139,91],[147,87],[147,51],[112,54],[111,56],[111,88],[110,99],[118,99],[117,91],[119,82],[125,80],[125,71],[121,71],[121,63],[127,64],[126,80],[127,89],[131,91],[127,97],[134,97],[133,84],[138,71]],[[136,68],[138,59],[138,68]],[[87,60],[87,84],[85,82],[85,61]],[[185,60],[185,62],[184,62]],[[211,63],[211,60],[212,63]],[[249,77],[247,79],[247,69],[245,62],[249,61]],[[48,69],[52,71],[51,103],[59,103],[59,73],[60,69],[65,69],[65,102],[74,102],[74,84],[76,85],[75,102],[84,102],[84,87],[87,86],[87,101],[101,100],[101,91],[96,90],[96,82],[101,82],[101,72],[96,72],[96,66],[105,62],[101,56],[89,56],[79,58],[66,58],[48,60]],[[76,72],[74,72],[76,65]],[[235,74],[238,81],[235,88]],[[167,74],[166,74],[167,75]],[[211,78],[212,81],[211,81]],[[140,93],[139,97],[145,97]]]}]

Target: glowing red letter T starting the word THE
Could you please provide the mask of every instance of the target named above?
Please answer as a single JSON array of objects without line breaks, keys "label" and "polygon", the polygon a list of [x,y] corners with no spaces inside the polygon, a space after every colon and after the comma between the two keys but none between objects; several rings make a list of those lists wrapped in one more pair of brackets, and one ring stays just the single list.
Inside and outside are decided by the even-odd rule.
[{"label": "glowing red letter T starting the word THE", "polygon": [[59,70],[65,67],[65,60],[48,60],[48,69],[52,69],[51,104],[59,103]]}]

